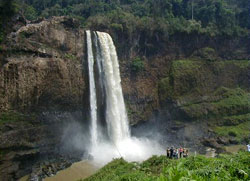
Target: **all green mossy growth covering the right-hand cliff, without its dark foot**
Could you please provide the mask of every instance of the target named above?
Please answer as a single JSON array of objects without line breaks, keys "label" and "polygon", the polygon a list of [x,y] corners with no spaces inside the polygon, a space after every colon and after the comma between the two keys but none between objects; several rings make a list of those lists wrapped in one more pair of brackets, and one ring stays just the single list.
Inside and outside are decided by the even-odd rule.
[{"label": "all green mossy growth covering the right-hand cliff, without its dark foot", "polygon": [[173,61],[168,76],[159,82],[160,99],[178,103],[175,110],[182,115],[174,119],[209,122],[216,134],[246,142],[250,136],[249,66],[248,60]]}]

